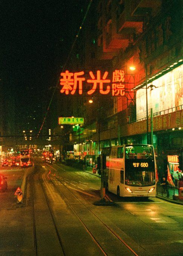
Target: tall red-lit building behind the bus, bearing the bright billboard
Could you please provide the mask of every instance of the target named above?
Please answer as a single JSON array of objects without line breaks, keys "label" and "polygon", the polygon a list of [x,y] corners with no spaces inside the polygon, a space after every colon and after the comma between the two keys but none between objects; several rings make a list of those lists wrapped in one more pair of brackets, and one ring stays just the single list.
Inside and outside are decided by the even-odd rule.
[{"label": "tall red-lit building behind the bus, bearing the bright billboard", "polygon": [[86,80],[89,71],[107,71],[114,90],[96,90],[92,105],[86,93],[72,98],[73,112],[82,108],[85,117],[80,136],[70,136],[70,143],[82,143],[81,158],[96,161],[106,146],[152,143],[160,175],[168,162],[171,172],[178,168],[172,159],[182,158],[183,146],[182,28],[179,0],[93,1],[75,51],[82,61],[69,68],[85,71]]}]

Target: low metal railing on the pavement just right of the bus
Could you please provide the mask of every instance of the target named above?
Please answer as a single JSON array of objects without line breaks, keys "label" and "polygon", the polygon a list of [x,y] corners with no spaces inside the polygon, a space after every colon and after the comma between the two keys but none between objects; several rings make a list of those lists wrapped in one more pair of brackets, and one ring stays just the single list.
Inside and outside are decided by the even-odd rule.
[{"label": "low metal railing on the pavement just right of the bus", "polygon": [[160,185],[160,183],[157,183],[156,194],[166,198],[175,199],[176,196],[178,196],[178,187],[169,185],[163,186]]}]

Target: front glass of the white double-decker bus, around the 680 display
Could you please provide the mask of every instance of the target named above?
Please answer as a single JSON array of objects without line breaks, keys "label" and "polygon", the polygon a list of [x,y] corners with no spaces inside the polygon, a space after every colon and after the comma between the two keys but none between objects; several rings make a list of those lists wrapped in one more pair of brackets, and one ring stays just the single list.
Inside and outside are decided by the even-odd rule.
[{"label": "front glass of the white double-decker bus, around the 680 display", "polygon": [[155,184],[155,162],[152,146],[139,144],[125,147],[125,184],[131,186]]}]

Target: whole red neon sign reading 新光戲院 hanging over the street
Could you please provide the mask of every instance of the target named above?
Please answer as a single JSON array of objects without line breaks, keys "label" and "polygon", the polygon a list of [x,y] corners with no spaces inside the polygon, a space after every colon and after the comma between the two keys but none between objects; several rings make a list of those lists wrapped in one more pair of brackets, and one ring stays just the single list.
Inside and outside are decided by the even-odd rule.
[{"label": "whole red neon sign reading \u65b0\u5149\u6232\u9662 hanging over the street", "polygon": [[[63,86],[60,90],[61,93],[65,93],[66,95],[75,94],[76,90],[78,89],[78,93],[82,94],[83,90],[83,82],[85,81],[84,71],[81,72],[62,72],[60,79],[60,85]],[[93,74],[92,71],[89,72],[90,78],[87,79],[87,83],[93,84],[92,88],[87,92],[88,95],[93,94],[97,87],[99,87],[100,94],[108,94],[110,90],[112,91],[112,96],[124,96],[125,95],[125,73],[123,70],[115,70],[113,72],[113,79],[112,79],[112,86],[109,84],[111,83],[110,79],[107,79],[108,72],[105,71],[103,75],[101,75],[101,71],[97,71],[96,75]]]}]

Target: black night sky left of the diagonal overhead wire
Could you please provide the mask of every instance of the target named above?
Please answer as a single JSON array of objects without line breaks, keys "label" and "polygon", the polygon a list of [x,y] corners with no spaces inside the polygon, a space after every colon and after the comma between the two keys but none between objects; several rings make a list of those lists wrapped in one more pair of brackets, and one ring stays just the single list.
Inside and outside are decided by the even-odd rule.
[{"label": "black night sky left of the diagonal overhead wire", "polygon": [[49,101],[52,90],[48,89],[56,86],[81,24],[83,3],[0,1],[0,73],[6,78],[4,86],[15,89],[17,111],[26,97],[34,105],[43,97]]}]

